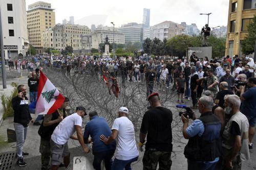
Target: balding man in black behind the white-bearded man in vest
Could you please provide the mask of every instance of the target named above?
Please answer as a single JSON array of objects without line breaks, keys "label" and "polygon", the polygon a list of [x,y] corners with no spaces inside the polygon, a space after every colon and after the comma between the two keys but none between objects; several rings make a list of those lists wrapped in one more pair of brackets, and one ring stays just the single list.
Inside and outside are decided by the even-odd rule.
[{"label": "balding man in black behind the white-bearded man in vest", "polygon": [[234,93],[232,90],[228,89],[227,82],[221,82],[220,89],[221,89],[221,91],[219,91],[217,93],[215,104],[219,105],[220,107],[222,107],[224,109],[224,102],[225,102],[224,96],[227,94],[234,94]]}]

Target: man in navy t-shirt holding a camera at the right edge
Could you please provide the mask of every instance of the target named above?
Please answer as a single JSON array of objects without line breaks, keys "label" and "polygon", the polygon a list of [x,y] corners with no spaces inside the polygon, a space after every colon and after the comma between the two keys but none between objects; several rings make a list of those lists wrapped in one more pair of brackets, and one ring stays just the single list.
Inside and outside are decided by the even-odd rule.
[{"label": "man in navy t-shirt holding a camera at the right edge", "polygon": [[249,121],[249,149],[252,149],[252,139],[256,124],[256,78],[249,78],[247,87],[249,88],[247,91],[244,90],[245,86],[241,86],[240,88],[240,98],[243,101],[241,112],[246,115]]}]

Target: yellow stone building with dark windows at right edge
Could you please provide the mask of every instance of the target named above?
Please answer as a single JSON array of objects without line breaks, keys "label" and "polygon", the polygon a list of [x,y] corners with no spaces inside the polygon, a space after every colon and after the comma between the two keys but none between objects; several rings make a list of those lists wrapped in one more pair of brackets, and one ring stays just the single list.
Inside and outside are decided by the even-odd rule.
[{"label": "yellow stone building with dark windows at right edge", "polygon": [[246,37],[254,15],[255,0],[229,0],[225,55],[242,55],[241,41]]}]

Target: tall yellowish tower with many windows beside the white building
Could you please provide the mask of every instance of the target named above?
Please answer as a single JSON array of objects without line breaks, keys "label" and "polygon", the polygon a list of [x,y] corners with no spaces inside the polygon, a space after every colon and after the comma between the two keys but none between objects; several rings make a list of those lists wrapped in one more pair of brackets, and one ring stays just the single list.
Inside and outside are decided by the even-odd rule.
[{"label": "tall yellowish tower with many windows beside the white building", "polygon": [[27,11],[28,33],[30,44],[37,53],[43,52],[44,37],[42,33],[48,28],[55,27],[55,12],[51,4],[36,2],[29,5]]}]

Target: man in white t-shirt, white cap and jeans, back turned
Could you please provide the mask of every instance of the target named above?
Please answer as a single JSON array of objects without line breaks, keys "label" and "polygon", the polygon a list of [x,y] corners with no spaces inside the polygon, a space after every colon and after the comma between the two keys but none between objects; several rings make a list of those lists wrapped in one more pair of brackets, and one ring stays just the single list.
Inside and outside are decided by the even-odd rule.
[{"label": "man in white t-shirt, white cap and jeans, back turned", "polygon": [[127,117],[128,113],[129,110],[126,107],[120,107],[118,118],[115,119],[112,126],[112,135],[109,138],[100,135],[100,140],[105,144],[110,144],[117,139],[116,158],[112,164],[112,169],[115,170],[131,169],[131,163],[137,161],[139,156],[134,126]]}]

